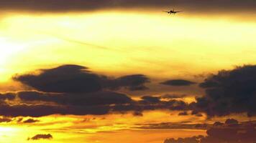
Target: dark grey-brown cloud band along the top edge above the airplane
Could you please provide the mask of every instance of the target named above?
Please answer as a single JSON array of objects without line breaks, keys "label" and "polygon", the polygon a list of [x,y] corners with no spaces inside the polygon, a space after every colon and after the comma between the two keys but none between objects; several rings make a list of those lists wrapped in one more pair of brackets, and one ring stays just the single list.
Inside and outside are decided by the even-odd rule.
[{"label": "dark grey-brown cloud band along the top edge above the airplane", "polygon": [[116,8],[152,8],[163,9],[178,7],[192,12],[201,11],[204,13],[219,11],[255,11],[256,2],[254,0],[1,0],[1,10],[20,11],[91,11],[97,9]]}]

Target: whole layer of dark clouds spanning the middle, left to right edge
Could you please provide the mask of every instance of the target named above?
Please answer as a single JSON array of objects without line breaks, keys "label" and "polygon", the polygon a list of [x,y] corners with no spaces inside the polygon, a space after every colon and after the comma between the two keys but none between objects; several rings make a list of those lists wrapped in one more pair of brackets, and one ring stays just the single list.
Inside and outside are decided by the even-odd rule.
[{"label": "whole layer of dark clouds spanning the middle, left to right edge", "polygon": [[[116,92],[147,89],[150,79],[143,74],[107,77],[93,73],[85,66],[63,65],[40,69],[39,74],[21,74],[13,79],[37,91],[20,91],[0,95],[0,115],[7,117],[42,117],[50,114],[109,114],[134,112],[142,116],[145,110],[179,110],[180,115],[202,117],[247,113],[256,115],[256,66],[238,66],[221,70],[207,77],[199,87],[205,89],[203,97],[188,104],[173,96],[144,96],[134,100],[127,94]],[[183,79],[162,82],[172,86],[188,86],[194,82]],[[186,95],[184,95],[186,96]]]}]

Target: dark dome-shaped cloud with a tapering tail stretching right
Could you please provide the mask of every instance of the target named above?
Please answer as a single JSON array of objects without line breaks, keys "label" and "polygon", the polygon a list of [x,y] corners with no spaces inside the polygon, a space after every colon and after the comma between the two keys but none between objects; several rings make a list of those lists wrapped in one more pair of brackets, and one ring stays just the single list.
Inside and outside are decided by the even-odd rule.
[{"label": "dark dome-shaped cloud with a tapering tail stretching right", "polygon": [[42,92],[57,93],[89,93],[122,87],[129,90],[143,90],[147,89],[145,84],[150,82],[150,79],[142,74],[113,79],[94,74],[85,66],[73,64],[41,69],[40,74],[17,75],[13,79]]}]

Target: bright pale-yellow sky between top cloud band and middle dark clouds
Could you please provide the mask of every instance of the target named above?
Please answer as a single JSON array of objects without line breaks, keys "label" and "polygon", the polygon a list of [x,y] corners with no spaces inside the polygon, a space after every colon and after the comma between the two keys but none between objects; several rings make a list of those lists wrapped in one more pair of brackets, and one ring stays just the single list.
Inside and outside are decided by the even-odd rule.
[{"label": "bright pale-yellow sky between top cloud band and middle dark clouds", "polygon": [[9,52],[15,48],[8,49],[12,58],[4,79],[59,64],[109,74],[191,77],[256,61],[256,26],[250,22],[120,11],[13,15],[4,22],[0,36],[26,45],[17,56]]}]

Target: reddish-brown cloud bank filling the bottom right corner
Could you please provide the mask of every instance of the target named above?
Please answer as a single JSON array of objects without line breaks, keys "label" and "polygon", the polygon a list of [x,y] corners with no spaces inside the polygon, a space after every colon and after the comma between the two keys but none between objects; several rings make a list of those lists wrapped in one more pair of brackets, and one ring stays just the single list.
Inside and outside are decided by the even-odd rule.
[{"label": "reddish-brown cloud bank filling the bottom right corner", "polygon": [[255,122],[244,122],[237,126],[217,123],[217,126],[207,130],[207,136],[165,139],[164,143],[254,143],[256,142]]}]

